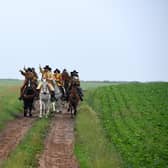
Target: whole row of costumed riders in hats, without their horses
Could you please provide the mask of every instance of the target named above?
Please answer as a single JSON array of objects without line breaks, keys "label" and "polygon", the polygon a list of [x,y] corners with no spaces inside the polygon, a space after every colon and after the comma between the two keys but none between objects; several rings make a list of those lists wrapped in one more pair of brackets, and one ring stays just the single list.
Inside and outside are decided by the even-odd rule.
[{"label": "whole row of costumed riders in hats, without their horses", "polygon": [[23,70],[20,70],[21,74],[25,77],[24,83],[21,86],[20,89],[20,97],[19,100],[22,100],[23,98],[23,90],[28,84],[28,81],[31,81],[36,89],[37,97],[40,93],[40,89],[42,86],[42,80],[46,80],[48,84],[48,88],[51,94],[51,101],[55,101],[55,92],[54,92],[54,85],[56,84],[61,93],[62,98],[64,100],[68,100],[68,95],[70,92],[70,89],[72,86],[75,86],[77,88],[78,95],[80,97],[80,100],[83,101],[83,93],[82,89],[80,87],[80,80],[79,75],[76,70],[72,71],[70,74],[67,72],[66,69],[64,69],[61,73],[59,69],[55,69],[52,72],[52,68],[49,65],[46,65],[45,67],[39,66],[40,73],[42,74],[41,81],[38,82],[38,75],[35,71],[35,68],[25,68]]}]

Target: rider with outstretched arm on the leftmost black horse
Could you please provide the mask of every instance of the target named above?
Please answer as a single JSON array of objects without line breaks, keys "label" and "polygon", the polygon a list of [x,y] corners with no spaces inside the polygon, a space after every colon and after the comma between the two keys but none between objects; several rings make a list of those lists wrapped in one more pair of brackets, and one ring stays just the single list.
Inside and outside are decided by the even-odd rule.
[{"label": "rider with outstretched arm on the leftmost black horse", "polygon": [[25,77],[25,80],[23,82],[23,85],[21,86],[20,88],[20,97],[19,97],[19,100],[21,100],[23,98],[23,89],[25,88],[27,82],[29,80],[33,81],[33,72],[32,72],[32,69],[31,68],[23,68],[24,70],[20,70],[20,73]]}]

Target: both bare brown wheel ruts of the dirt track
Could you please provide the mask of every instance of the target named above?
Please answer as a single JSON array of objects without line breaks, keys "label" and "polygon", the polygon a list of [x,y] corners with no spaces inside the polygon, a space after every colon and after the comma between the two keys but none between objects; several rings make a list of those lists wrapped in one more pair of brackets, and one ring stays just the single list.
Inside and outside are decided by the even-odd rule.
[{"label": "both bare brown wheel ruts of the dirt track", "polygon": [[[37,118],[37,112],[34,112],[31,118],[17,117],[8,122],[5,129],[0,132],[0,167]],[[45,140],[45,149],[39,160],[39,168],[79,168],[73,149],[74,119],[64,109],[52,119],[51,129]]]}]

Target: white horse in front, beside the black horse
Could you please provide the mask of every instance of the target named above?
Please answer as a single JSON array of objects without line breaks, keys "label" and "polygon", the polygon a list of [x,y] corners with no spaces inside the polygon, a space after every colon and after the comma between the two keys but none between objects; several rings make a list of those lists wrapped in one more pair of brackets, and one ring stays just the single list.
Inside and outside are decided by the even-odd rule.
[{"label": "white horse in front, beside the black horse", "polygon": [[40,89],[40,115],[39,117],[42,118],[44,115],[47,118],[50,112],[50,105],[51,105],[51,95],[48,88],[48,84],[46,80],[42,81],[42,86]]}]

